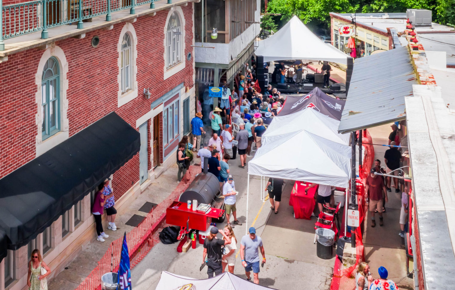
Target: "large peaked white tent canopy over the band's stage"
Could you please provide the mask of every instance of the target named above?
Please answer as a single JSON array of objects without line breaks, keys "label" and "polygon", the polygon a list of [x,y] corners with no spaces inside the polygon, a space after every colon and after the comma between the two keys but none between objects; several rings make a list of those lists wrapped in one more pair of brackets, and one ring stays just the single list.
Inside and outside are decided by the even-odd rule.
[{"label": "large peaked white tent canopy over the band's stage", "polygon": [[295,15],[277,33],[259,41],[255,54],[262,55],[264,62],[273,60],[327,60],[345,65],[348,58],[348,55],[333,45],[320,40]]}]

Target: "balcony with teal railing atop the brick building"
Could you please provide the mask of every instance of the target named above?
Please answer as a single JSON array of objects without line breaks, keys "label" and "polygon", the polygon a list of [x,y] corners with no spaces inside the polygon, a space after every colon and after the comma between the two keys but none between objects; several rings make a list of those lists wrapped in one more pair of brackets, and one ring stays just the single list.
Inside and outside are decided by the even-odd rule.
[{"label": "balcony with teal railing atop the brick building", "polygon": [[194,1],[37,0],[0,6],[0,57]]}]

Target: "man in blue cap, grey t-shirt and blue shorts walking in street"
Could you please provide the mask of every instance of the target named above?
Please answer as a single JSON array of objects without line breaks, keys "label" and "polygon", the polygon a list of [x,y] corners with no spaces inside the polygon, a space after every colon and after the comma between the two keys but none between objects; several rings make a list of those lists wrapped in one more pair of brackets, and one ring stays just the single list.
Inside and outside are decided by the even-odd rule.
[{"label": "man in blue cap, grey t-shirt and blue shorts walking in street", "polygon": [[259,252],[261,250],[262,262],[265,263],[265,251],[261,237],[256,235],[256,229],[249,228],[249,235],[244,235],[240,241],[240,257],[245,267],[247,280],[251,280],[250,271],[253,270],[254,283],[259,284]]}]

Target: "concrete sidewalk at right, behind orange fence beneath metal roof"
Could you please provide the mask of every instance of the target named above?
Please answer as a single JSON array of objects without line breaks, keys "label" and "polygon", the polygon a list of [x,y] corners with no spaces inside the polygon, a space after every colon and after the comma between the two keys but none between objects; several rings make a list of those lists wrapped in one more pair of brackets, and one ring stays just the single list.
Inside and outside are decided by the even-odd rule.
[{"label": "concrete sidewalk at right, behind orange fence beneath metal roof", "polygon": [[[368,129],[373,144],[388,144],[388,137],[392,131],[390,125],[392,124]],[[387,146],[374,145],[374,159],[381,160],[381,166],[385,166],[384,153],[387,149],[389,149]],[[367,212],[365,215],[367,220],[364,232],[365,260],[370,265],[374,279],[379,277],[379,266],[384,266],[389,272],[389,279],[393,280],[399,289],[414,289],[414,282],[406,273],[406,254],[402,248],[404,240],[398,235],[401,192],[395,193],[394,187],[391,189],[392,192],[387,192],[389,202],[386,203],[386,213],[383,214],[384,226],[379,226],[379,217],[376,215],[376,226],[372,228],[371,214]],[[410,263],[412,270],[412,260]]]}]

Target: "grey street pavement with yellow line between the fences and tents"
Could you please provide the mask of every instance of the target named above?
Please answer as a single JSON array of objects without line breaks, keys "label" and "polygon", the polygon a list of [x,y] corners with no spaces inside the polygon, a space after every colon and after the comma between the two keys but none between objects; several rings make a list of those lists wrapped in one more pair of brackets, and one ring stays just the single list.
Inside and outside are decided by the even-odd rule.
[{"label": "grey street pavement with yellow line between the fences and tents", "polygon": [[[248,158],[251,160],[251,158]],[[198,162],[198,160],[196,160]],[[279,213],[274,215],[270,203],[260,198],[261,180],[259,176],[250,176],[250,192],[247,212],[247,168],[238,167],[240,160],[230,160],[231,174],[234,176],[237,196],[237,217],[243,223],[235,225],[237,247],[246,233],[246,229],[254,226],[257,234],[263,238],[267,263],[259,273],[259,284],[274,289],[329,289],[333,271],[334,258],[322,260],[316,256],[316,245],[313,245],[314,220],[296,220],[293,218],[292,207],[288,205],[290,190],[293,183],[287,181],[283,189],[283,199]],[[177,170],[172,167],[169,170]],[[151,202],[154,202],[151,200]],[[231,222],[233,218],[231,216]],[[220,229],[226,224],[217,225]],[[221,238],[221,235],[219,235]],[[131,270],[132,285],[136,290],[155,289],[163,270],[196,279],[207,279],[207,267],[201,272],[203,246],[197,244],[196,249],[187,253],[178,253],[177,243],[172,245],[157,244],[147,256]],[[234,274],[246,279],[238,257]]]}]

